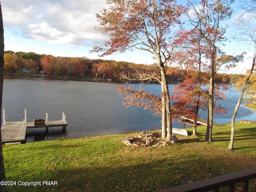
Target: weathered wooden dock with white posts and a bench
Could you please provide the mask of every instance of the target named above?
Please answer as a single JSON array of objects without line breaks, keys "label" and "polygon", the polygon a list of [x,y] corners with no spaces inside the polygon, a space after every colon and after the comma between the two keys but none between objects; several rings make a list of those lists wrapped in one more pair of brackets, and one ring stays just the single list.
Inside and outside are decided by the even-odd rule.
[{"label": "weathered wooden dock with white posts and a bench", "polygon": [[27,122],[26,120],[26,109],[25,119],[20,122],[6,122],[5,121],[5,109],[3,108],[3,124],[1,127],[2,132],[2,144],[19,144],[24,143],[26,138],[26,130],[29,128],[46,128],[48,132],[49,127],[60,127],[66,130],[68,122],[66,121],[66,115],[62,113],[62,120],[49,121],[48,113],[46,113],[46,119],[42,125],[37,125],[34,122]]}]

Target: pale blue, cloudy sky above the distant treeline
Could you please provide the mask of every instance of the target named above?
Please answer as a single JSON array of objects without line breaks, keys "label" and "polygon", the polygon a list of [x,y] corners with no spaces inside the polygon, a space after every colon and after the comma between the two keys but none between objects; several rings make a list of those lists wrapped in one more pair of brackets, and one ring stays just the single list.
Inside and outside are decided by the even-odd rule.
[{"label": "pale blue, cloudy sky above the distant treeline", "polygon": [[[104,57],[89,52],[92,46],[100,45],[107,40],[95,29],[95,26],[99,25],[95,15],[106,8],[105,1],[1,0],[5,50],[50,54],[56,57],[88,57],[152,64],[153,56],[140,50]],[[234,18],[241,11],[235,9],[228,21],[226,36],[231,36]],[[240,54],[244,51],[241,45],[232,40],[226,44],[223,51],[227,54]],[[250,65],[250,60],[245,60],[236,68],[228,71],[222,69],[219,72],[241,74],[245,73]]]}]

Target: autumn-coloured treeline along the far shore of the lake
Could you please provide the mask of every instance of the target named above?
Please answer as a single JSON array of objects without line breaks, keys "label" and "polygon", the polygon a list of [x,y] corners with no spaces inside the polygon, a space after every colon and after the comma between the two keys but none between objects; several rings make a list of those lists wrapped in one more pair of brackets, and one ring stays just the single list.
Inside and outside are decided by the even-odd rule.
[{"label": "autumn-coloured treeline along the far shore of the lake", "polygon": [[[86,57],[55,57],[36,54],[34,52],[4,52],[4,72],[30,72],[47,76],[66,76],[79,78],[110,78],[116,79],[120,72],[155,71],[156,65],[135,64],[131,62],[89,59]],[[189,74],[192,74],[191,72]],[[182,82],[188,76],[188,71],[175,68],[167,75],[169,82]],[[240,74],[216,74],[216,83],[234,84]]]}]

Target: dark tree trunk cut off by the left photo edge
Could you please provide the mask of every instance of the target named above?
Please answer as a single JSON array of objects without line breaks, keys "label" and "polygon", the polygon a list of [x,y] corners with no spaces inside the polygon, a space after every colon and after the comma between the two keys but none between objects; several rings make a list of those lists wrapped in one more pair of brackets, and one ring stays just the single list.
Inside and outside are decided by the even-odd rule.
[{"label": "dark tree trunk cut off by the left photo edge", "polygon": [[[0,122],[2,120],[2,95],[3,95],[3,82],[4,82],[4,27],[2,17],[2,7],[0,4]],[[0,181],[6,181],[4,170],[4,157],[2,151],[2,134],[0,131]],[[6,185],[0,185],[1,192],[7,192]]]}]

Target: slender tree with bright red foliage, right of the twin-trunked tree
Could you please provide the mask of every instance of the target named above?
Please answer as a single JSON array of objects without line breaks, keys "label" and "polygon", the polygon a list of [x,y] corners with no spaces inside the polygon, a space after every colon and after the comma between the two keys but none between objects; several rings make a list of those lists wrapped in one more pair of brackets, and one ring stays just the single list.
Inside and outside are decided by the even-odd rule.
[{"label": "slender tree with bright red foliage, right of the twin-trunked tree", "polygon": [[[190,14],[191,13],[188,13],[188,15]],[[184,82],[180,84],[180,86],[174,88],[174,99],[178,100],[178,102],[174,102],[174,105],[176,106],[176,112],[181,112],[180,115],[186,112],[186,110],[178,110],[178,107],[190,110],[190,113],[184,114],[183,116],[189,116],[194,120],[193,134],[196,134],[196,121],[198,118],[199,108],[200,106],[205,107],[205,101],[209,101],[209,99],[211,99],[211,97],[209,96],[209,91],[202,90],[202,86],[207,86],[210,82],[209,79],[211,79],[212,77],[209,77],[208,75],[212,71],[212,65],[209,65],[209,63],[212,64],[212,62],[208,62],[208,60],[210,60],[209,58],[211,58],[209,57],[211,55],[211,52],[208,43],[206,42],[205,38],[202,37],[202,31],[200,30],[200,28],[193,28],[192,30],[181,30],[177,32],[177,39],[179,40],[178,42],[180,42],[180,46],[186,49],[183,49],[182,53],[178,54],[176,61],[184,65],[186,70],[188,70],[186,74],[188,79],[184,80]],[[216,73],[218,70],[220,70],[221,67],[233,67],[235,66],[236,62],[239,62],[243,57],[243,54],[238,56],[232,56],[224,54],[224,52],[221,52],[220,50],[217,51],[218,52],[216,53],[215,67],[213,70],[213,73],[215,74],[214,79],[216,78],[215,76],[218,75]],[[222,90],[225,90],[227,89],[227,87],[221,84],[217,84],[213,88],[215,93],[213,92],[212,106],[213,108],[215,108],[215,111],[223,112],[223,110],[220,110],[221,108],[219,106],[215,106],[214,101],[224,98],[224,95],[222,97],[219,97],[220,95],[222,95],[221,93],[219,93],[219,90],[220,88]],[[206,93],[208,93],[208,96],[206,96]],[[217,96],[218,99],[214,99],[215,96]],[[194,102],[184,102],[186,100],[191,100]],[[192,116],[190,116],[190,114]]]}]

